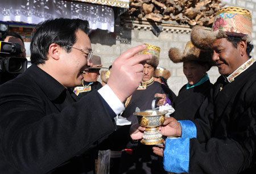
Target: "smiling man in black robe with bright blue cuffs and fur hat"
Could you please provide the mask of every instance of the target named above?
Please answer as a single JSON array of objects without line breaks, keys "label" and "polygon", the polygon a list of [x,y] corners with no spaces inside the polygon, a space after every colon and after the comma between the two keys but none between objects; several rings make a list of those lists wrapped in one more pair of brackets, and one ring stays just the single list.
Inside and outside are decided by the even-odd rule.
[{"label": "smiling man in black robe with bright blue cuffs and fur hat", "polygon": [[[250,57],[251,14],[228,7],[217,12],[212,32],[195,27],[194,45],[212,50],[221,76],[200,108],[200,118],[167,118],[161,133],[166,139],[166,171],[181,173],[255,173],[256,63]],[[185,109],[185,108],[184,108]],[[143,130],[143,129],[142,129]]]}]

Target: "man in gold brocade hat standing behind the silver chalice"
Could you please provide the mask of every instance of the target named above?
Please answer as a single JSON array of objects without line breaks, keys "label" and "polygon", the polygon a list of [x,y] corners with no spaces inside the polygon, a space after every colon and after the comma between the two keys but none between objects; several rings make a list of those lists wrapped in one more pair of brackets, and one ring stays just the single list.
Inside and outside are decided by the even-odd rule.
[{"label": "man in gold brocade hat standing behind the silver chalice", "polygon": [[[133,115],[137,107],[141,111],[151,109],[155,94],[162,95],[163,97],[166,96],[161,84],[155,82],[153,77],[154,70],[159,63],[160,48],[154,45],[145,45],[147,45],[147,48],[141,54],[152,54],[152,58],[145,63],[142,82],[137,90],[126,100],[126,108],[122,114],[132,124],[138,122],[137,117]],[[176,97],[174,93],[173,95],[170,98]],[[166,99],[162,100],[161,105],[164,103],[166,103]],[[162,162],[159,162],[158,156],[152,152],[152,146],[138,143],[131,145],[130,148],[133,148],[132,154],[122,153],[121,171],[119,173],[130,173],[133,171],[136,171],[136,173],[166,173],[163,170]]]}]

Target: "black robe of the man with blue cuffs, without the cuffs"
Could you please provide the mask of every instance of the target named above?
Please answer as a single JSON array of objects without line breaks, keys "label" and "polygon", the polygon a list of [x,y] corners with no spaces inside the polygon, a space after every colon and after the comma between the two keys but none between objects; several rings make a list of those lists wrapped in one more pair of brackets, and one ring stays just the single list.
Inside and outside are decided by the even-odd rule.
[{"label": "black robe of the man with blue cuffs, without the cuffs", "polygon": [[[219,77],[194,121],[189,173],[255,173],[256,63],[231,83]],[[222,89],[222,90],[221,90]]]}]

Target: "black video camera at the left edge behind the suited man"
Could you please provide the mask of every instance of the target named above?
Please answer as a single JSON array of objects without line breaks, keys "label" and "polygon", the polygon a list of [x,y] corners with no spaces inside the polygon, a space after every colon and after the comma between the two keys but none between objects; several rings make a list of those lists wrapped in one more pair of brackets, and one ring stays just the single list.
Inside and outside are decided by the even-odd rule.
[{"label": "black video camera at the left edge behind the suited man", "polygon": [[[0,40],[6,38],[8,31],[9,24],[0,23]],[[24,57],[15,57],[23,53],[23,50],[24,46],[18,43],[0,41],[0,73],[23,73],[27,69],[27,59]]]}]

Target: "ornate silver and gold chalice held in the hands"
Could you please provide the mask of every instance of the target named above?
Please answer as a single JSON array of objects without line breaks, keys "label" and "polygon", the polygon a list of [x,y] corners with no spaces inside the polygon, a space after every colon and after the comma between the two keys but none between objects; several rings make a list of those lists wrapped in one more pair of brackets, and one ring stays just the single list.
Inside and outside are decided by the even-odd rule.
[{"label": "ornate silver and gold chalice held in the hands", "polygon": [[164,141],[158,128],[164,123],[166,113],[168,113],[168,111],[160,112],[159,109],[148,109],[133,113],[137,116],[139,125],[146,128],[142,135],[141,143],[144,145],[157,145]]}]

